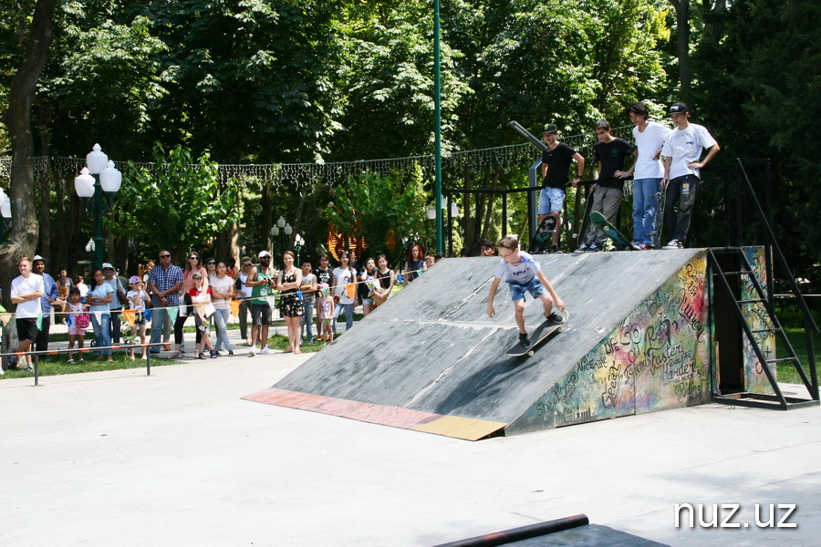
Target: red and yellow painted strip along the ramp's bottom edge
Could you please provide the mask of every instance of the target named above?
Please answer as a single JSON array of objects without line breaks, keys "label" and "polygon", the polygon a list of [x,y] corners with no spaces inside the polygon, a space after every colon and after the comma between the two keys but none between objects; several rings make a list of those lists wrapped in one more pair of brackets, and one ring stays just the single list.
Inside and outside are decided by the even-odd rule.
[{"label": "red and yellow painted strip along the ramp's bottom edge", "polygon": [[246,401],[265,403],[277,407],[296,408],[340,418],[356,419],[370,424],[391,428],[411,429],[433,433],[454,439],[479,440],[494,434],[507,426],[503,422],[478,418],[444,416],[431,412],[420,412],[410,408],[375,405],[335,397],[311,395],[298,391],[287,391],[268,387],[251,395],[241,397]]}]

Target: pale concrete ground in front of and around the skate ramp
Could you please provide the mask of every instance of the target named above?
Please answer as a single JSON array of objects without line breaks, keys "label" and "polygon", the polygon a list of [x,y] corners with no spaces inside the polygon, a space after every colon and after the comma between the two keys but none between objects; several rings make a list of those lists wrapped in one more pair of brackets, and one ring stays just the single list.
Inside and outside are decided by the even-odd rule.
[{"label": "pale concrete ground in front of and around the skate ramp", "polygon": [[[819,408],[707,405],[468,442],[241,400],[310,357],[247,349],[151,377],[0,380],[0,544],[434,545],[578,513],[676,546],[821,537]],[[682,503],[705,521],[740,504],[739,527],[696,513],[676,528]],[[775,522],[795,504],[797,528],[759,527],[756,504]]]}]

